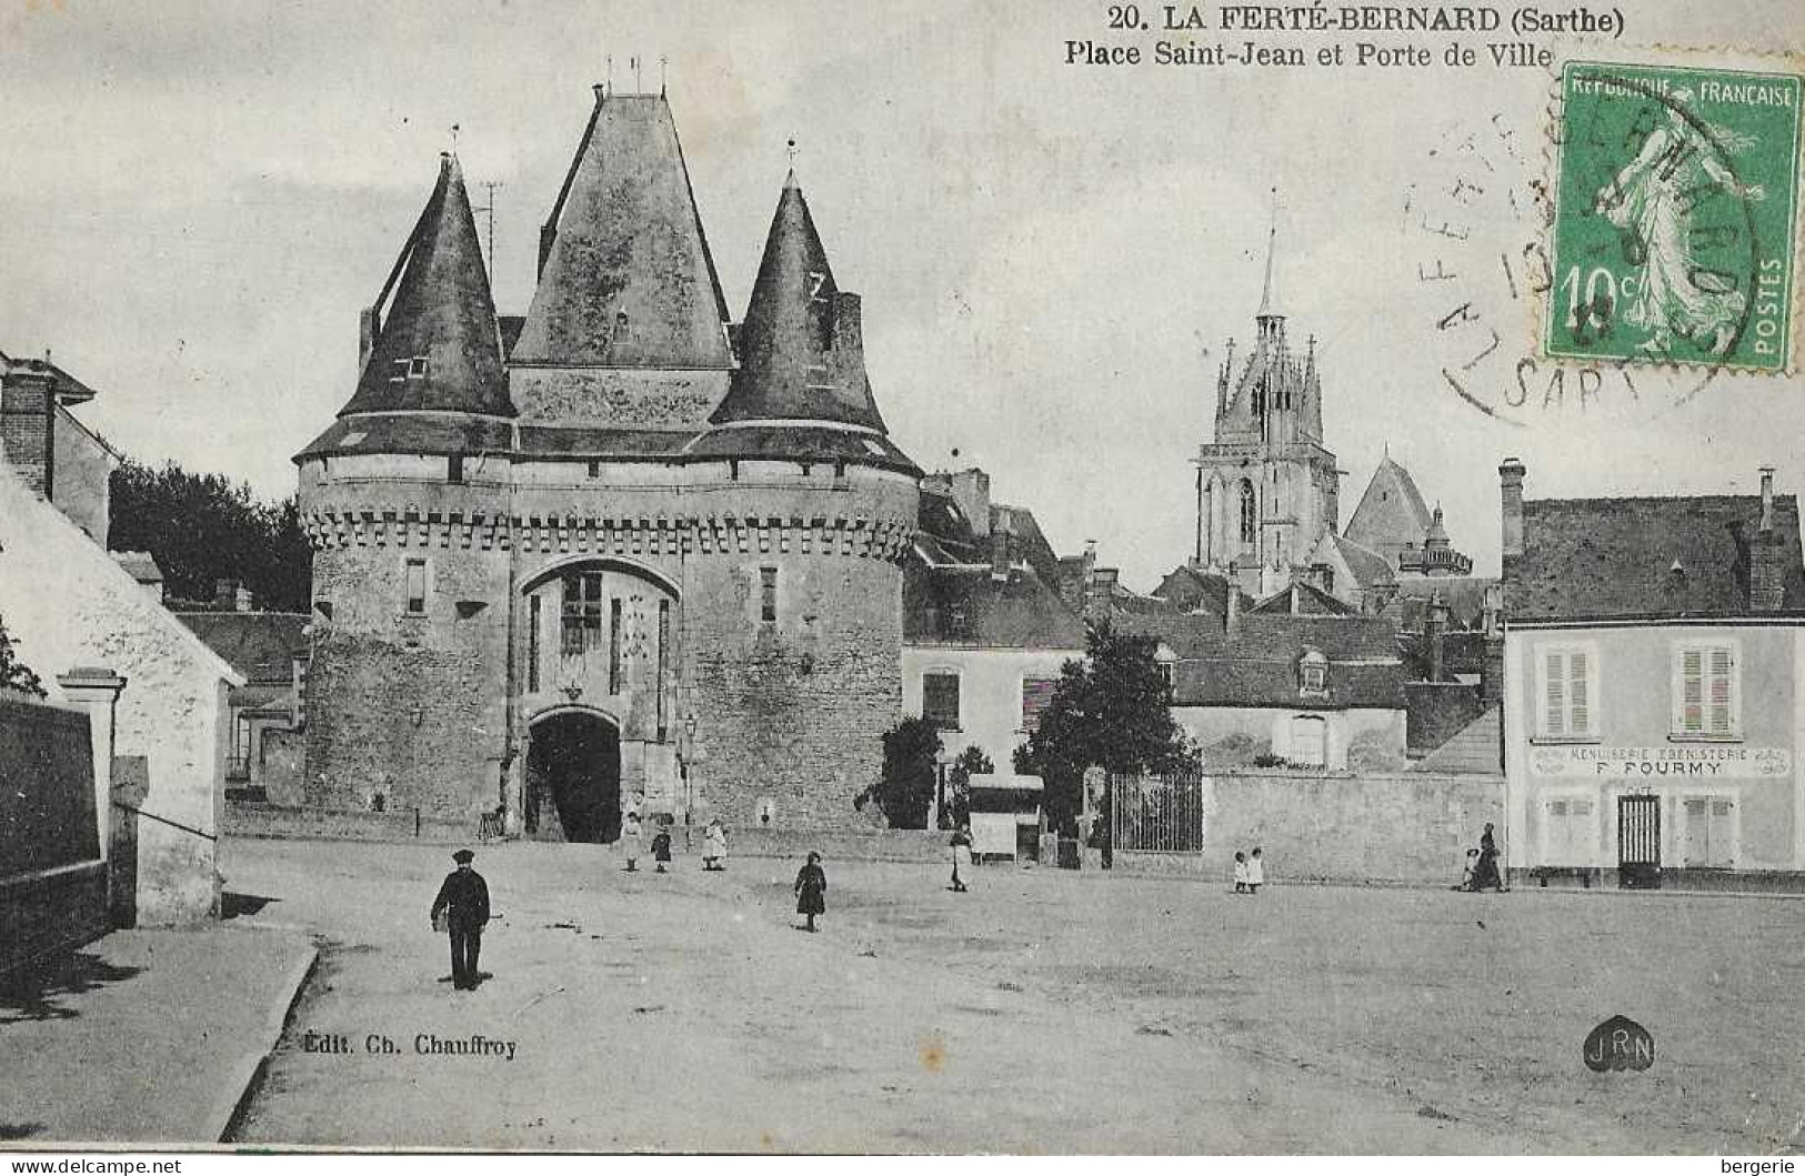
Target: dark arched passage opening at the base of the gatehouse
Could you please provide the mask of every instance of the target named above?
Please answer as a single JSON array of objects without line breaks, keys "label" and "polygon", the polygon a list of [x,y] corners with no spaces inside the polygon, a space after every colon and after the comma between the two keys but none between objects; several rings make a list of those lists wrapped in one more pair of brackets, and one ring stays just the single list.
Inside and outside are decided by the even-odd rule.
[{"label": "dark arched passage opening at the base of the gatehouse", "polygon": [[527,835],[616,841],[621,835],[621,732],[596,711],[554,711],[532,723]]}]

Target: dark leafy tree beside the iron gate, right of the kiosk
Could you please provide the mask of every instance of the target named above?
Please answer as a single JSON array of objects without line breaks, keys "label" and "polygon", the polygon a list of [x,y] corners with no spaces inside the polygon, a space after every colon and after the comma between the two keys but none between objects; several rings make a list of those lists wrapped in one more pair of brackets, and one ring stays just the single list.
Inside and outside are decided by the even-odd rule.
[{"label": "dark leafy tree beside the iron gate, right of the kiosk", "polygon": [[1173,721],[1166,682],[1153,662],[1153,637],[1117,633],[1106,620],[1090,631],[1083,662],[1067,662],[1052,700],[1018,749],[1045,783],[1047,817],[1074,828],[1083,810],[1085,768],[1115,776],[1200,767],[1197,749]]}]

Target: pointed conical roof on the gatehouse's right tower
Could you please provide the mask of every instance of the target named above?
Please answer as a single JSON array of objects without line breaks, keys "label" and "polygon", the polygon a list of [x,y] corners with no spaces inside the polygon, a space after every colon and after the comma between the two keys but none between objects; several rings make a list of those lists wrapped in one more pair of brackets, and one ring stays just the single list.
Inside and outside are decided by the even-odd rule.
[{"label": "pointed conical roof on the gatehouse's right tower", "polygon": [[834,283],[794,171],[783,180],[740,326],[740,370],[709,420],[809,420],[884,431],[865,373],[859,299]]}]

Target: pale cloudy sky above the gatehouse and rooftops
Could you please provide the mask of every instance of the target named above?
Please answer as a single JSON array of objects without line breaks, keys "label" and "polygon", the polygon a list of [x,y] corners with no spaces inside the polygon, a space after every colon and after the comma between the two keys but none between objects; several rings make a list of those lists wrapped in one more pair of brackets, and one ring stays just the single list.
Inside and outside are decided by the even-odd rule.
[{"label": "pale cloudy sky above the gatehouse and rooftops", "polygon": [[[1650,370],[1639,400],[1606,384],[1581,404],[1569,372],[1554,404],[1543,361],[1502,404],[1534,359],[1522,274],[1502,274],[1534,234],[1549,70],[1065,65],[1067,40],[1110,38],[1105,7],[0,0],[0,350],[51,350],[130,456],[287,496],[289,458],[356,386],[357,312],[439,152],[455,142],[475,202],[498,184],[496,303],[523,314],[590,87],[662,79],[735,317],[794,139],[836,280],[865,298],[892,436],[926,469],[982,465],[1061,554],[1096,539],[1135,588],[1191,552],[1189,460],[1274,222],[1343,521],[1384,455],[1478,572],[1496,570],[1504,456],[1531,498],[1753,492],[1765,464],[1805,489],[1798,377],[1720,373],[1682,400],[1699,373]],[[1699,7],[1623,4],[1617,45],[1538,43],[1805,43],[1785,4]],[[1491,38],[1469,40],[1484,56]],[[1484,321],[1439,326],[1462,303]],[[1489,325],[1500,350],[1462,379],[1511,420],[1442,375]]]}]

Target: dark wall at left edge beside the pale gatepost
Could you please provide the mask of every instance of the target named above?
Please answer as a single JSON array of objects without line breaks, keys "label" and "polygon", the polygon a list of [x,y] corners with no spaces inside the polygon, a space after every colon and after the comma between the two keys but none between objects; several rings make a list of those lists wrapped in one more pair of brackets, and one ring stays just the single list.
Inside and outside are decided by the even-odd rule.
[{"label": "dark wall at left edge beside the pale gatepost", "polygon": [[0,696],[0,974],[106,934],[88,716]]}]

